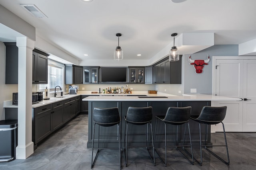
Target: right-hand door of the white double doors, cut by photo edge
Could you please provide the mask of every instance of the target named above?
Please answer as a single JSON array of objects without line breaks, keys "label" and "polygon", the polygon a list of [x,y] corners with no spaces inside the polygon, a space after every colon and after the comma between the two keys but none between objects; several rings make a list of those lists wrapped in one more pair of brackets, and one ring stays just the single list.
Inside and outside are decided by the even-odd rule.
[{"label": "right-hand door of the white double doors, cut by photo edge", "polygon": [[243,132],[256,131],[256,60],[244,60]]}]

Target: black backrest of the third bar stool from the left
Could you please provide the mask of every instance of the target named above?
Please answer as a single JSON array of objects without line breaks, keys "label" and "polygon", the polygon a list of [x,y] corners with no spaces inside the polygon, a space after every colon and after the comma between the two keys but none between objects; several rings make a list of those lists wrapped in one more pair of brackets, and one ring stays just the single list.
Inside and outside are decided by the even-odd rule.
[{"label": "black backrest of the third bar stool from the left", "polygon": [[191,106],[168,107],[163,121],[175,125],[186,123],[190,119],[191,109]]}]

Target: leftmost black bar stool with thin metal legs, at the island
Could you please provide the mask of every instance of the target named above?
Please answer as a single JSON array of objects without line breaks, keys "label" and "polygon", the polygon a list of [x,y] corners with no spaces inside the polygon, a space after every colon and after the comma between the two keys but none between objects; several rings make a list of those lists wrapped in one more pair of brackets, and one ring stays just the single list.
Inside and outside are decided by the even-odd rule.
[{"label": "leftmost black bar stool with thin metal legs, at the island", "polygon": [[[119,150],[119,163],[120,163],[120,169],[122,169],[122,147],[121,147],[121,132],[120,132],[120,116],[118,112],[117,107],[112,107],[112,108],[98,108],[94,107],[93,111],[93,135],[92,135],[92,166],[94,166],[95,160],[98,156],[98,152],[100,149],[118,149]],[[98,133],[98,147],[94,147],[94,131],[95,131],[95,124],[99,125],[99,133]],[[110,127],[117,125],[117,132],[118,135],[115,135],[114,137],[118,137],[118,145],[119,148],[100,148],[100,137],[106,137],[110,135],[100,135],[100,126],[103,127]],[[96,156],[93,160],[93,150],[98,149]]]}]

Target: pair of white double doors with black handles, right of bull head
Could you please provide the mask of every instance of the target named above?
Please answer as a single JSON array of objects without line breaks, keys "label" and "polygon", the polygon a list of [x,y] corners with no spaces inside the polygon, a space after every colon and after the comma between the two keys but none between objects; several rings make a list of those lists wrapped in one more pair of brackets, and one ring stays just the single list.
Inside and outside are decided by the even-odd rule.
[{"label": "pair of white double doors with black handles, right of bull head", "polygon": [[[217,96],[243,100],[212,102],[212,106],[227,106],[225,131],[256,132],[256,60],[253,57],[223,58],[216,57],[213,92]],[[213,129],[223,131],[221,124]]]}]

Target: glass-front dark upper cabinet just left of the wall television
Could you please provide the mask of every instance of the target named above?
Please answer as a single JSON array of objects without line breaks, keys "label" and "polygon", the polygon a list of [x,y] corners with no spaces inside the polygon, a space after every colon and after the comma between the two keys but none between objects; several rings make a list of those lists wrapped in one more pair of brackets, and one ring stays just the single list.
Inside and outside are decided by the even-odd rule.
[{"label": "glass-front dark upper cabinet just left of the wall television", "polygon": [[98,84],[99,67],[84,67],[84,82],[83,84]]}]

